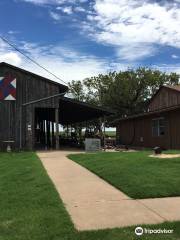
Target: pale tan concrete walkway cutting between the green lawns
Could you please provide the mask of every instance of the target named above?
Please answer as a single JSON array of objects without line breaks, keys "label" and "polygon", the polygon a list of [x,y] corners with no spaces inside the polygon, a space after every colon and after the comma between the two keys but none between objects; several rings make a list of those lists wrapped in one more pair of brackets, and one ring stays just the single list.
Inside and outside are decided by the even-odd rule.
[{"label": "pale tan concrete walkway cutting between the green lawns", "polygon": [[180,197],[133,200],[97,175],[69,160],[72,152],[39,152],[78,230],[94,230],[180,220]]}]

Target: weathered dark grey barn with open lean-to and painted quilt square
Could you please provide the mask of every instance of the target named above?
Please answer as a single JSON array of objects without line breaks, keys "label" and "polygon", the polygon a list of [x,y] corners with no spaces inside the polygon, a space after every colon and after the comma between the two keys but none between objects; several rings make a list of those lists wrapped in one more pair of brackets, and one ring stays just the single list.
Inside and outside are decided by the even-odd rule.
[{"label": "weathered dark grey barn with open lean-to and painted quilt square", "polygon": [[[59,124],[74,124],[110,112],[64,95],[68,87],[0,63],[0,150],[59,148]],[[37,144],[38,143],[38,144]]]}]

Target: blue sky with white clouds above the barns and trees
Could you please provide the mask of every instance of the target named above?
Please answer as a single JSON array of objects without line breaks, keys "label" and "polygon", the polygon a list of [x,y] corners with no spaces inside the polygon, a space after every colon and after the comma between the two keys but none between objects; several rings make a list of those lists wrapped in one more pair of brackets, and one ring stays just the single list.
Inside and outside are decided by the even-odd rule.
[{"label": "blue sky with white clouds above the barns and trees", "polygon": [[[0,0],[0,35],[64,79],[180,72],[180,0]],[[0,61],[50,77],[0,40]]]}]

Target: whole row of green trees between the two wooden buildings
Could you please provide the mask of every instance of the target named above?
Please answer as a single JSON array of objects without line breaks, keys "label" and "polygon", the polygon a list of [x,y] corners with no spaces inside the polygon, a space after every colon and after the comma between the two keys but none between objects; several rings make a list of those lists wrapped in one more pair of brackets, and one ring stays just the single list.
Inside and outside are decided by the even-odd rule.
[{"label": "whole row of green trees between the two wooden buildings", "polygon": [[109,107],[118,117],[143,112],[150,98],[162,85],[176,85],[179,75],[150,68],[110,72],[69,83],[78,100]]}]

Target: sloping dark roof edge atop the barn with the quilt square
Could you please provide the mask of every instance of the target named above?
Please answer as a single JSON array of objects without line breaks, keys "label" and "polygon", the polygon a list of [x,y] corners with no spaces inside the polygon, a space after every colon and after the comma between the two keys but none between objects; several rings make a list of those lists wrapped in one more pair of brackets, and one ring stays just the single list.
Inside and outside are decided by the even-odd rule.
[{"label": "sloping dark roof edge atop the barn with the quilt square", "polygon": [[16,66],[11,65],[11,64],[6,63],[6,62],[0,62],[0,67],[1,67],[1,66],[10,67],[10,68],[12,68],[12,69],[14,69],[14,70],[17,70],[17,71],[20,71],[20,72],[23,72],[23,73],[26,73],[26,74],[30,74],[30,75],[32,75],[32,76],[34,76],[34,77],[40,78],[41,80],[44,80],[44,81],[47,81],[47,82],[49,82],[49,83],[58,85],[59,87],[64,88],[64,90],[65,90],[66,92],[68,91],[68,86],[66,86],[66,85],[64,85],[64,84],[61,84],[61,83],[58,83],[58,82],[55,82],[55,81],[53,81],[53,80],[50,80],[49,78],[45,78],[45,77],[43,77],[43,76],[40,76],[40,75],[38,75],[38,74],[36,74],[36,73],[27,71],[27,70],[22,69],[22,68],[19,68],[19,67],[16,67]]}]

